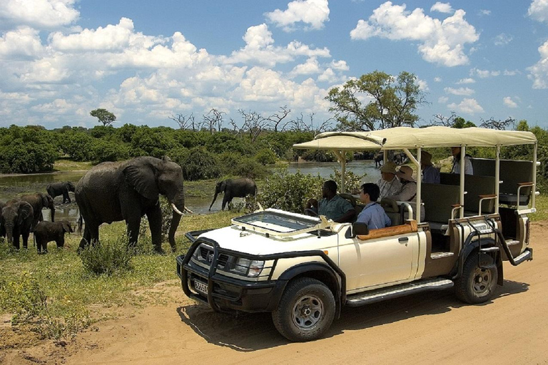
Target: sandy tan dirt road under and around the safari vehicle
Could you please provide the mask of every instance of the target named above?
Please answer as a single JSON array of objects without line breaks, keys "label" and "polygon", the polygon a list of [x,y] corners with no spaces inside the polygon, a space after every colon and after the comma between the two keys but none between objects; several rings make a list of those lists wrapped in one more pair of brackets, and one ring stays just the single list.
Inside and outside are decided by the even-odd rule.
[{"label": "sandy tan dirt road under and around the safari vehicle", "polygon": [[481,305],[452,290],[345,308],[324,339],[289,343],[270,314],[216,314],[175,281],[168,304],[128,310],[59,346],[0,354],[5,364],[548,364],[548,222],[532,225],[534,260],[504,264]]}]

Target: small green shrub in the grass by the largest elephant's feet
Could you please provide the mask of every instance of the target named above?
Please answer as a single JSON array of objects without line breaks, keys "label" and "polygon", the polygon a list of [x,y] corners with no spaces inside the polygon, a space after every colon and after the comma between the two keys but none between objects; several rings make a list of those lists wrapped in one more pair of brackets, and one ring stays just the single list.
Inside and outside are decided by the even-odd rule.
[{"label": "small green shrub in the grass by the largest elephant's feet", "polygon": [[103,240],[100,244],[88,245],[80,252],[83,268],[92,274],[110,276],[131,269],[133,253],[128,250],[128,237],[121,235],[116,240]]}]

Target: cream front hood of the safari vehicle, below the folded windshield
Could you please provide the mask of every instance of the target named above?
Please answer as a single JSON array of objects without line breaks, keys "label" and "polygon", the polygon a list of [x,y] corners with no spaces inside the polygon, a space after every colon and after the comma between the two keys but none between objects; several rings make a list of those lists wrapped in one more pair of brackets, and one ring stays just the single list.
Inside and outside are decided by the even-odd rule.
[{"label": "cream front hood of the safari vehicle, below the folded windshield", "polygon": [[290,239],[278,237],[266,237],[257,232],[242,230],[238,226],[230,226],[205,232],[199,237],[214,240],[228,250],[245,252],[251,255],[270,255],[281,252],[325,250],[336,247],[338,235],[323,236],[318,239],[316,235],[303,233]]}]

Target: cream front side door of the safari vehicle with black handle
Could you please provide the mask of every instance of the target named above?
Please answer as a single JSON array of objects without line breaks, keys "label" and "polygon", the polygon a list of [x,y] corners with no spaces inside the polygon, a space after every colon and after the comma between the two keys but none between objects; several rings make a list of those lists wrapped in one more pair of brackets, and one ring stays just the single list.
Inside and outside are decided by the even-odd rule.
[{"label": "cream front side door of the safari vehicle with black handle", "polygon": [[358,237],[340,240],[339,263],[346,274],[347,292],[415,276],[419,243],[417,232],[370,240]]}]

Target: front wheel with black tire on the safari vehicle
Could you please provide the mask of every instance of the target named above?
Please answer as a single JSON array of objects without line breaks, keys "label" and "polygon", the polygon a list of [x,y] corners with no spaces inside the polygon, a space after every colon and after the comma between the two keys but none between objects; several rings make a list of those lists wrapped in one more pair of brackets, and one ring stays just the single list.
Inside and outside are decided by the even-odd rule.
[{"label": "front wheel with black tire on the safari vehicle", "polygon": [[335,317],[335,297],[319,280],[295,279],[285,288],[278,308],[272,312],[274,326],[290,341],[318,339]]}]

